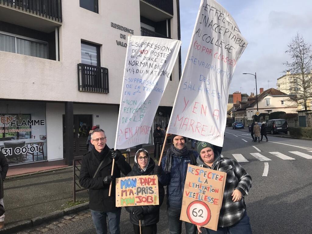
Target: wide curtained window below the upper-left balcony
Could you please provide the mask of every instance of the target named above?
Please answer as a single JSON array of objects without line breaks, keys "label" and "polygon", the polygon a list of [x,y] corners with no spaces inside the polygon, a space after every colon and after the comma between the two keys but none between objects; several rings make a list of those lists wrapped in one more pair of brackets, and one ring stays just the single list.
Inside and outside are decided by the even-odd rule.
[{"label": "wide curtained window below the upper-left balcony", "polygon": [[48,43],[27,37],[0,33],[0,50],[39,58],[48,58]]}]

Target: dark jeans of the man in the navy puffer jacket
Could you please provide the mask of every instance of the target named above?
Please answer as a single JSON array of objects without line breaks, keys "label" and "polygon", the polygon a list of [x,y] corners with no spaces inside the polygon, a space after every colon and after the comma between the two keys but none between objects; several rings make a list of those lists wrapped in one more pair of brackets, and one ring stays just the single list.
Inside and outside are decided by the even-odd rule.
[{"label": "dark jeans of the man in the navy puffer jacket", "polygon": [[[168,207],[168,224],[170,234],[181,234],[182,221],[180,220],[181,208]],[[196,234],[197,227],[193,223],[185,222],[186,234]]]}]

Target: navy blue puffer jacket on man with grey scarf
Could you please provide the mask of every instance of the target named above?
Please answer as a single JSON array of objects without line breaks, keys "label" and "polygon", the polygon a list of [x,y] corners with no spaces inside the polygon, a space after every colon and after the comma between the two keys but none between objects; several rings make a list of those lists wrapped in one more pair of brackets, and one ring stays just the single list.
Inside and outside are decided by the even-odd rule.
[{"label": "navy blue puffer jacket on man with grey scarf", "polygon": [[[182,195],[184,189],[184,183],[186,178],[186,171],[188,164],[191,163],[190,153],[194,154],[195,160],[198,157],[198,153],[193,150],[188,151],[188,155],[178,157],[173,155],[173,162],[171,172],[166,174],[163,172],[158,175],[158,180],[163,185],[167,185],[167,206],[174,208],[182,207]],[[161,160],[161,165],[164,170],[167,156],[164,156]],[[196,165],[196,163],[194,164]]]}]

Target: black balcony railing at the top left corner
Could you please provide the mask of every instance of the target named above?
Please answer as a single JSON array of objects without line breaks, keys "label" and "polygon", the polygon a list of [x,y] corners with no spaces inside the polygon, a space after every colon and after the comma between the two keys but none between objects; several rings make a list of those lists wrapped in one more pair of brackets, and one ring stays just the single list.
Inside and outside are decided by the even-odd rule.
[{"label": "black balcony railing at the top left corner", "polygon": [[0,4],[62,22],[62,0],[0,0]]}]

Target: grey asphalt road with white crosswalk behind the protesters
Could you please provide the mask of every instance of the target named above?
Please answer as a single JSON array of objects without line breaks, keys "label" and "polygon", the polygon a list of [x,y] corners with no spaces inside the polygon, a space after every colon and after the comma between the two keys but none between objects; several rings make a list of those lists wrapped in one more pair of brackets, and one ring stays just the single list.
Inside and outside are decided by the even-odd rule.
[{"label": "grey asphalt road with white crosswalk behind the protesters", "polygon": [[[269,142],[251,142],[249,132],[228,128],[222,155],[241,161],[252,177],[245,201],[254,234],[311,233],[312,141],[269,136]],[[123,234],[133,233],[124,209],[120,228]],[[87,218],[46,233],[92,234],[95,230],[92,219]],[[158,233],[169,233],[165,203]]]}]

